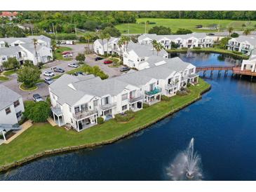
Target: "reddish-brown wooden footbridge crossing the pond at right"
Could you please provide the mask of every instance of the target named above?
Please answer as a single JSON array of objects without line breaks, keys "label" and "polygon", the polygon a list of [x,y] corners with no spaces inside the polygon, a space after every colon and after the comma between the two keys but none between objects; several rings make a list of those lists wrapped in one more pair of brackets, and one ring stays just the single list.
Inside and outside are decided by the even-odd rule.
[{"label": "reddish-brown wooden footbridge crossing the pond at right", "polygon": [[203,71],[203,76],[206,76],[206,71],[210,71],[210,75],[213,75],[213,71],[218,71],[218,76],[220,76],[221,71],[224,72],[224,76],[227,76],[228,71],[232,71],[232,76],[236,74],[240,74],[240,78],[242,75],[246,76],[251,76],[251,79],[253,76],[256,76],[256,72],[252,72],[250,70],[241,70],[241,67],[234,67],[232,65],[213,65],[213,66],[201,66],[201,67],[196,67],[196,72]]}]

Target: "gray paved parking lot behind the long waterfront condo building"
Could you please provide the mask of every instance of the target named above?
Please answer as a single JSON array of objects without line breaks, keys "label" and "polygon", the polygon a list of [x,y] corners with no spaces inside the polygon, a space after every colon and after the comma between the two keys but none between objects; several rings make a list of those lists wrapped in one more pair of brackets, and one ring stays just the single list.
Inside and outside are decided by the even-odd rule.
[{"label": "gray paved parking lot behind the long waterfront condo building", "polygon": [[[70,48],[72,48],[72,53],[73,53],[73,57],[71,61],[64,61],[64,60],[55,60],[53,62],[49,62],[47,64],[43,65],[43,69],[41,69],[42,74],[41,74],[41,78],[45,78],[43,76],[43,72],[44,71],[53,71],[54,67],[58,67],[61,69],[64,69],[65,71],[70,71],[74,68],[72,67],[68,67],[69,63],[72,62],[76,62],[76,60],[74,59],[76,57],[76,55],[78,55],[78,53],[83,53],[84,52],[84,47],[86,46],[85,44],[77,44],[77,45],[62,45],[62,46],[68,46]],[[100,69],[102,71],[105,72],[105,74],[109,75],[109,78],[114,77],[114,76],[119,76],[121,75],[120,69],[121,67],[118,68],[114,68],[114,67],[109,67],[108,64],[103,64],[104,60],[99,60],[99,61],[95,61],[95,57],[97,57],[97,55],[92,54],[92,55],[87,55],[86,56],[86,64],[90,65],[91,67],[93,66],[98,66],[100,67]],[[60,74],[60,73],[55,73],[55,75]],[[11,90],[14,90],[15,92],[18,92],[18,94],[22,95],[23,100],[32,100],[32,95],[35,93],[39,93],[39,95],[41,95],[43,98],[46,98],[49,95],[49,91],[48,91],[48,85],[46,83],[37,83],[37,90],[34,91],[23,91],[20,90],[19,85],[20,83],[18,83],[17,81],[17,75],[13,74],[11,76],[9,76],[9,78],[11,78],[9,81],[4,81],[4,82],[0,82],[3,85],[6,85],[6,87],[11,88]]]}]

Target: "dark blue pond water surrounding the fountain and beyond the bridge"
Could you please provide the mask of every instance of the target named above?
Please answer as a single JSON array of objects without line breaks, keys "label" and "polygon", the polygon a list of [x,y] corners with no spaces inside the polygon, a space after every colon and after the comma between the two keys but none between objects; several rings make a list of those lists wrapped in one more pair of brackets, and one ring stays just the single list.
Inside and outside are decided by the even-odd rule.
[{"label": "dark blue pond water surrounding the fountain and beyond the bridge", "polygon": [[[218,54],[179,55],[196,65],[238,64]],[[256,83],[206,79],[202,100],[114,144],[41,158],[0,174],[4,180],[166,180],[166,167],[191,137],[205,180],[256,180]]]}]

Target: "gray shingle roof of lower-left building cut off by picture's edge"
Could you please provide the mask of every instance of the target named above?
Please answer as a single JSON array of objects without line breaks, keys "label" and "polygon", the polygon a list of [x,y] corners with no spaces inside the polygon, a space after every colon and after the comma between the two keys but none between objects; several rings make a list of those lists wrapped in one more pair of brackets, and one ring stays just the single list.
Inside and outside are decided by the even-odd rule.
[{"label": "gray shingle roof of lower-left building cut off by picture's edge", "polygon": [[4,85],[0,85],[0,110],[10,106],[13,102],[20,99],[21,95]]}]

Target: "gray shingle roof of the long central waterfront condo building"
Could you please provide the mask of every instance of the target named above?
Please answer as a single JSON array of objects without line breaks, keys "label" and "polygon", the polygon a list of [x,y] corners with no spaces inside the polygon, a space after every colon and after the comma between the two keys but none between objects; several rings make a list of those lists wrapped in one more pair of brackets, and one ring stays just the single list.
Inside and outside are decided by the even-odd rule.
[{"label": "gray shingle roof of the long central waterfront condo building", "polygon": [[[158,58],[152,59],[159,62]],[[141,71],[133,71],[131,73],[116,76],[101,80],[99,77],[94,76],[71,76],[64,74],[58,78],[54,83],[49,85],[50,90],[57,95],[60,104],[67,103],[72,106],[84,95],[102,97],[104,95],[118,95],[128,85],[135,85],[140,88],[145,85],[152,78],[164,79],[170,76],[175,71],[184,70],[189,63],[183,62],[179,57],[172,59],[161,58],[166,64],[150,67]],[[72,88],[74,87],[74,88]]]}]

